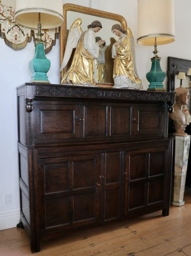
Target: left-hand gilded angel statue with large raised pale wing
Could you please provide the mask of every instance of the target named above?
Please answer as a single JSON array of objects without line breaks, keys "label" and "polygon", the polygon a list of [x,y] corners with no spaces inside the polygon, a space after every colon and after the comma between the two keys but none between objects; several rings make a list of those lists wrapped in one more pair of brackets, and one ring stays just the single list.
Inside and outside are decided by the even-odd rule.
[{"label": "left-hand gilded angel statue with large raised pale wing", "polygon": [[83,32],[81,22],[80,18],[76,19],[69,31],[60,71],[67,65],[73,48],[76,48],[76,50],[71,66],[62,77],[61,83],[95,85],[94,59],[98,58],[99,45],[105,42],[104,40],[96,42],[95,33],[102,28],[102,25],[100,21],[95,20]]}]

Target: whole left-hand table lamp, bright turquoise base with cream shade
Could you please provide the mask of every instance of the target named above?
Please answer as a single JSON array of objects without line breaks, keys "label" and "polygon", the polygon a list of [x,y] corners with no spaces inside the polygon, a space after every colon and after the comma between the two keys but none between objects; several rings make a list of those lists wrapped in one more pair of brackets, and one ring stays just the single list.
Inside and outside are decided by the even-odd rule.
[{"label": "whole left-hand table lamp, bright turquoise base with cream shade", "polygon": [[34,42],[34,58],[29,61],[29,69],[32,72],[31,82],[50,83],[47,76],[50,60],[44,53],[41,28],[57,28],[63,23],[62,0],[16,0],[15,20],[25,27],[38,28],[37,40]]}]

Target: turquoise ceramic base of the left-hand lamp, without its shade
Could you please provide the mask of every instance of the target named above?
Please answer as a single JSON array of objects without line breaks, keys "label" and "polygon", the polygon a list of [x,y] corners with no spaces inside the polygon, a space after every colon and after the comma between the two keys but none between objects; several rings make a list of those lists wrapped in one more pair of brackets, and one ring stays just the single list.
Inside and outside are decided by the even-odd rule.
[{"label": "turquoise ceramic base of the left-hand lamp, without its shade", "polygon": [[32,73],[32,83],[50,83],[47,72],[50,68],[50,60],[44,53],[43,41],[36,41],[34,58],[29,61],[29,69]]}]

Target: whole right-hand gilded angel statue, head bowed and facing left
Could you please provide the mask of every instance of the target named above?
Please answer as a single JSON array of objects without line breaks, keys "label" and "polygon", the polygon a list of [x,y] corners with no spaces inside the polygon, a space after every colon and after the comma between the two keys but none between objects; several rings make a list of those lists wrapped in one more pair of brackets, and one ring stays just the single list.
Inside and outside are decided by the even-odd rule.
[{"label": "whole right-hand gilded angel statue, head bowed and facing left", "polygon": [[142,81],[137,75],[135,45],[131,29],[127,28],[126,31],[119,24],[115,24],[111,31],[119,37],[112,48],[112,58],[115,59],[113,67],[114,88],[142,89]]}]

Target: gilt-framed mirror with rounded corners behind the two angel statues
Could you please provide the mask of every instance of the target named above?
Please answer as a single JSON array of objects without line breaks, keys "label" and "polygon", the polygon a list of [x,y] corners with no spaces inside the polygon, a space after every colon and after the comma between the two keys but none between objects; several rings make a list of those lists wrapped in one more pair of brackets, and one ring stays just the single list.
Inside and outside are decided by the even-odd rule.
[{"label": "gilt-framed mirror with rounded corners behind the two angel statues", "polygon": [[[100,10],[96,10],[93,8],[87,8],[80,5],[73,5],[73,4],[65,4],[63,5],[63,15],[64,15],[64,23],[61,27],[60,32],[60,64],[62,63],[64,57],[64,51],[66,48],[66,41],[69,29],[76,18],[81,18],[81,29],[85,31],[87,26],[91,24],[94,20],[99,20],[103,26],[103,28],[96,33],[96,37],[100,37],[101,39],[105,40],[106,45],[108,45],[108,49],[111,47],[111,44],[118,40],[118,37],[111,32],[111,28],[114,24],[119,23],[123,29],[127,29],[126,20],[121,16],[114,13],[108,13]],[[110,48],[111,49],[111,48]],[[74,49],[75,50],[75,49]],[[74,52],[73,50],[73,52]],[[66,70],[70,67],[71,58],[66,65],[66,67],[60,72],[60,80],[62,79]],[[110,58],[106,62],[105,60],[105,80],[104,82],[101,81],[99,83],[97,79],[97,68],[94,70],[94,77],[96,80],[97,85],[105,85],[105,86],[113,86],[113,63],[114,60],[111,58],[111,53],[108,55]],[[96,67],[96,63],[95,63]]]}]

